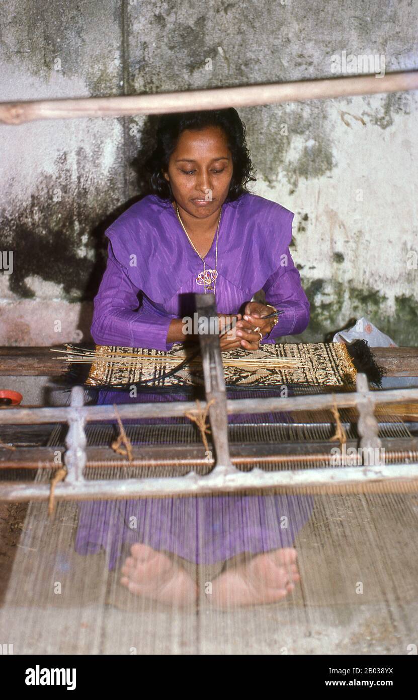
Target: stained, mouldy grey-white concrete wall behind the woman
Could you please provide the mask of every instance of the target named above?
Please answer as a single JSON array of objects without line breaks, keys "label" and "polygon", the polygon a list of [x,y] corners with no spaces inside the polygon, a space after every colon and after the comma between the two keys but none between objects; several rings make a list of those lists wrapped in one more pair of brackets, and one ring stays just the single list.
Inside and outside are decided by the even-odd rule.
[{"label": "stained, mouldy grey-white concrete wall behind the woman", "polygon": [[[413,69],[417,20],[410,0],[3,0],[0,99],[332,77],[343,51]],[[417,94],[240,116],[253,191],[296,214],[292,254],[311,302],[299,339],[367,316],[417,344]],[[0,125],[0,250],[14,253],[13,274],[0,275],[0,344],[89,338],[103,231],[138,194],[150,132],[149,118]]]}]

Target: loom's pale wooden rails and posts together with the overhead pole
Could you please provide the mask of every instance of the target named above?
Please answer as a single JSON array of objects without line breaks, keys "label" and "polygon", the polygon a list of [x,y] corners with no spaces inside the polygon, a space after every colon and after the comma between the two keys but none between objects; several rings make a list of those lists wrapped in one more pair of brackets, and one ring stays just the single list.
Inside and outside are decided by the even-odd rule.
[{"label": "loom's pale wooden rails and posts together with the overhead pole", "polygon": [[[176,111],[195,111],[200,109],[222,109],[229,106],[255,106],[260,104],[279,104],[298,102],[306,99],[330,99],[348,97],[356,94],[376,94],[380,92],[397,92],[416,90],[418,71],[389,73],[386,76],[353,76],[345,78],[326,78],[324,80],[302,80],[291,83],[271,83],[266,85],[245,85],[238,87],[215,88],[212,90],[189,90],[154,95],[125,95],[117,97],[89,97],[87,99],[54,99],[29,102],[0,103],[0,123],[20,125],[36,119],[80,118],[133,116],[135,114],[166,113]],[[209,295],[208,295],[209,296]],[[202,338],[201,338],[202,343]],[[239,472],[231,463],[228,437],[226,433],[227,414],[238,412],[261,413],[268,410],[324,409],[353,407],[359,409],[359,433],[361,447],[375,447],[379,444],[377,421],[373,414],[375,396],[369,391],[366,376],[358,374],[355,393],[339,395],[319,395],[280,399],[254,399],[227,401],[224,381],[221,377],[222,359],[213,344],[213,339],[203,350],[203,368],[205,373],[206,395],[209,407],[210,423],[215,442],[217,460],[215,468],[209,475],[201,477],[195,472],[187,477],[158,479],[122,479],[87,482],[82,475],[86,463],[85,422],[94,419],[113,419],[112,407],[89,407],[83,405],[81,387],[74,387],[71,392],[71,405],[64,408],[14,409],[1,411],[0,419],[6,424],[68,422],[70,429],[67,437],[68,450],[65,456],[67,475],[64,482],[55,485],[58,499],[84,499],[107,497],[127,498],[142,496],[166,496],[173,493],[213,493],[217,491],[234,491],[237,489],[258,489],[305,487],[333,485],[359,486],[362,483],[382,484],[390,482],[410,483],[418,478],[418,463],[408,465],[385,465],[363,467],[338,467],[315,470],[287,470],[281,472]],[[220,362],[220,364],[219,364]],[[222,386],[223,384],[223,386]],[[398,391],[379,392],[379,402],[397,402],[414,400],[417,390],[402,389]],[[280,404],[278,403],[280,402]],[[233,404],[233,405],[231,405]],[[203,404],[205,407],[205,404]],[[192,402],[162,405],[120,405],[121,418],[139,418],[184,415],[194,409]],[[361,426],[361,427],[360,427]],[[110,482],[113,482],[110,489]],[[187,487],[185,484],[187,482]],[[127,484],[129,484],[127,488]],[[144,485],[145,484],[145,485]],[[167,488],[168,484],[170,486]],[[109,490],[110,489],[110,490]],[[209,489],[209,491],[208,491]],[[46,500],[50,496],[48,484],[0,484],[1,500]]]}]

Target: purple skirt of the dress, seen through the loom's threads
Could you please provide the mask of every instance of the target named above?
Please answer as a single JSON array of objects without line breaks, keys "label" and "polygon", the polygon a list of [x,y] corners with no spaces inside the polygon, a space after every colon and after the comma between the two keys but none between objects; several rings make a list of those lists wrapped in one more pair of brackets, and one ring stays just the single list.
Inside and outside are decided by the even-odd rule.
[{"label": "purple skirt of the dress, seen through the loom's threads", "polygon": [[[166,395],[156,394],[155,398],[171,400]],[[176,400],[180,399],[176,396]],[[149,401],[150,394],[146,398],[140,396],[133,399],[123,391],[100,391],[97,403],[143,400]],[[254,418],[262,418],[264,422],[280,419],[289,421],[289,416],[284,416],[285,414],[270,413],[254,415]],[[252,417],[249,414],[237,414],[229,416],[229,421],[246,422]],[[158,419],[158,422],[171,423],[177,420]],[[133,422],[155,421],[145,419]],[[212,564],[231,559],[241,552],[257,554],[291,547],[296,534],[310,518],[312,508],[313,498],[310,496],[239,494],[80,503],[75,550],[78,554],[96,554],[101,549],[106,549],[110,569],[119,563],[122,547],[126,543],[135,542],[143,542],[159,551],[173,552],[195,563]],[[282,520],[284,516],[287,517],[287,522]],[[129,526],[132,517],[136,518],[135,529]]]}]

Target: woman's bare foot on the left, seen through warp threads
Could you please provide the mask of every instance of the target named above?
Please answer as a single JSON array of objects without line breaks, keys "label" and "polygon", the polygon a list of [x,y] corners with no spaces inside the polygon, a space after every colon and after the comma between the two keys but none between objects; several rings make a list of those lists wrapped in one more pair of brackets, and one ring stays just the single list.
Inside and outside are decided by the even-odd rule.
[{"label": "woman's bare foot on the left, seen through warp threads", "polygon": [[196,601],[196,584],[166,554],[139,543],[132,545],[131,554],[122,566],[120,580],[131,593],[174,605]]}]

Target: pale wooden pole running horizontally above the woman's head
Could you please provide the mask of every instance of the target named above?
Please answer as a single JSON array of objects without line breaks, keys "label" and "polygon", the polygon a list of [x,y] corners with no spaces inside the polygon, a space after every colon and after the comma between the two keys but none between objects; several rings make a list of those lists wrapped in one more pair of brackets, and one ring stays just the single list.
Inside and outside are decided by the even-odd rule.
[{"label": "pale wooden pole running horizontally above the woman's head", "polygon": [[356,94],[417,90],[418,71],[300,80],[290,83],[216,87],[208,90],[134,94],[116,97],[81,97],[28,102],[1,102],[0,123],[19,125],[36,119],[122,117],[142,114],[250,107],[306,99],[351,97]]}]

